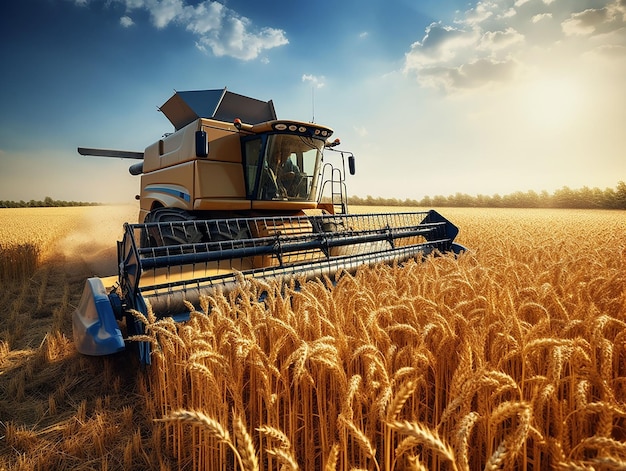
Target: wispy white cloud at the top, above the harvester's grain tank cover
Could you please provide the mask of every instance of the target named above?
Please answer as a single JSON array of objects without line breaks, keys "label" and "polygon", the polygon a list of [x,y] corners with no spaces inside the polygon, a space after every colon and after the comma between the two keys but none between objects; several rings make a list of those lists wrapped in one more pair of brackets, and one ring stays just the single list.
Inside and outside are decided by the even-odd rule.
[{"label": "wispy white cloud at the top, above the harvester's grain tank cover", "polygon": [[[143,9],[150,15],[157,29],[172,24],[182,26],[196,36],[198,49],[215,56],[230,56],[241,60],[256,59],[268,49],[289,43],[285,31],[271,27],[257,27],[245,16],[222,2],[204,0],[188,4],[187,0],[108,0],[121,3],[128,13]],[[89,0],[74,0],[87,5]],[[124,27],[133,20],[125,15],[120,20]]]}]

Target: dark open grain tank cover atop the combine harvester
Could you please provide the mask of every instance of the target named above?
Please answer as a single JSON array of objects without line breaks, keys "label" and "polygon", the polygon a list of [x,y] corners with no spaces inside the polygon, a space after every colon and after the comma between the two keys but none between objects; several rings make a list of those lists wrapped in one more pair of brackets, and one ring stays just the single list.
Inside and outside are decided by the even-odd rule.
[{"label": "dark open grain tank cover atop the combine harvester", "polygon": [[160,110],[178,131],[198,118],[258,124],[276,119],[274,103],[257,100],[224,89],[176,92]]}]

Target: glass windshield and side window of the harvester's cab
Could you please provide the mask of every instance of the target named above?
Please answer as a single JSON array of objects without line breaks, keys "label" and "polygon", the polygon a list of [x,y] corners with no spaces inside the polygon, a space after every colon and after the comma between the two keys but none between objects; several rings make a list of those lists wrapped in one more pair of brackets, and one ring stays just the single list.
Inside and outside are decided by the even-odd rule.
[{"label": "glass windshield and side window of the harvester's cab", "polygon": [[258,200],[314,199],[323,146],[322,139],[295,134],[270,134],[265,146],[260,139],[249,141],[248,193]]}]

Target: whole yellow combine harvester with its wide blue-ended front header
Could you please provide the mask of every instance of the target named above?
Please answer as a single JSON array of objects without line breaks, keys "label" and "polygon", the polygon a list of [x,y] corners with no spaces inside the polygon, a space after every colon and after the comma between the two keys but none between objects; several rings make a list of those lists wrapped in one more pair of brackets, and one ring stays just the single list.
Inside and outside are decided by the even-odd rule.
[{"label": "whole yellow combine harvester with its wide blue-ended front header", "polygon": [[[138,159],[138,224],[125,224],[116,279],[90,278],[73,314],[79,352],[107,355],[143,333],[131,311],[184,321],[203,295],[250,279],[284,282],[459,253],[458,229],[435,211],[348,214],[346,160],[332,129],[276,118],[272,101],[223,90],[176,92],[160,110],[175,132],[144,152],[79,148]],[[337,157],[336,165],[328,162]],[[326,195],[329,202],[322,202]],[[110,286],[105,286],[110,283]],[[140,345],[149,363],[149,346]]]}]

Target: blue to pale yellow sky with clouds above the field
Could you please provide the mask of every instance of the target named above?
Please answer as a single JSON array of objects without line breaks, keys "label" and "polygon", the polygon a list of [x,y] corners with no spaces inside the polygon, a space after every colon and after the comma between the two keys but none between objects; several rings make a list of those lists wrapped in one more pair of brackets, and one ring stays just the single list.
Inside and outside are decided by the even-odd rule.
[{"label": "blue to pale yellow sky with clouds above the field", "polygon": [[173,93],[335,130],[365,197],[626,180],[626,0],[9,0],[0,200],[132,202]]}]

